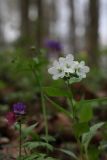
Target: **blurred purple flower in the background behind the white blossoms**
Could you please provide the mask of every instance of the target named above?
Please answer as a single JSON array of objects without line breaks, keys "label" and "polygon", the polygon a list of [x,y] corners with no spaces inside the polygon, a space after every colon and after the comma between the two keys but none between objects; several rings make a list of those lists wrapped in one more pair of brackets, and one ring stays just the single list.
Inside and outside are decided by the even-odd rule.
[{"label": "blurred purple flower in the background behind the white blossoms", "polygon": [[49,49],[52,49],[52,50],[55,50],[55,51],[58,51],[58,52],[62,51],[61,43],[58,42],[58,41],[55,41],[55,40],[46,40],[45,41],[45,47],[49,48]]}]

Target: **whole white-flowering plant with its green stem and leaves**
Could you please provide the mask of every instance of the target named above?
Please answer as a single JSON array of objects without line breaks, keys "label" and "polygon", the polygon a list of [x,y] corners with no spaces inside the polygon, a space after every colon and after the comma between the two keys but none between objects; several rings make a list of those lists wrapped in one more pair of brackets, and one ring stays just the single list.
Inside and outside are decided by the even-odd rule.
[{"label": "whole white-flowering plant with its green stem and leaves", "polygon": [[[72,119],[72,132],[77,140],[77,145],[80,149],[80,154],[76,155],[73,152],[70,155],[77,160],[90,160],[93,158],[93,153],[90,151],[90,142],[96,135],[99,128],[104,128],[105,122],[94,123],[93,120],[93,105],[97,105],[103,102],[107,102],[107,98],[92,99],[92,100],[80,100],[77,102],[73,97],[72,84],[80,82],[86,78],[90,68],[85,65],[84,61],[78,62],[74,60],[72,54],[66,55],[66,57],[60,57],[59,60],[55,60],[53,65],[48,69],[48,73],[52,75],[53,80],[63,79],[67,89],[59,89],[56,87],[45,87],[45,98],[66,116]],[[63,108],[57,104],[50,97],[64,96],[67,98],[69,110]],[[100,148],[100,147],[99,147]],[[98,160],[101,151],[98,149],[94,160]]]}]

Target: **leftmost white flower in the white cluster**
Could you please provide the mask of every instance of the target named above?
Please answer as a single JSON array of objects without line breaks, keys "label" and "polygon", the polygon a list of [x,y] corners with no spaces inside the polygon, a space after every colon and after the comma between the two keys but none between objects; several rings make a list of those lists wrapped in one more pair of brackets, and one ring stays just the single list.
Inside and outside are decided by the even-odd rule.
[{"label": "leftmost white flower in the white cluster", "polygon": [[54,80],[57,80],[59,78],[63,78],[65,76],[63,64],[61,62],[62,62],[62,60],[60,61],[60,63],[58,61],[54,61],[53,67],[48,69],[48,72],[50,74],[52,74],[52,78]]}]

